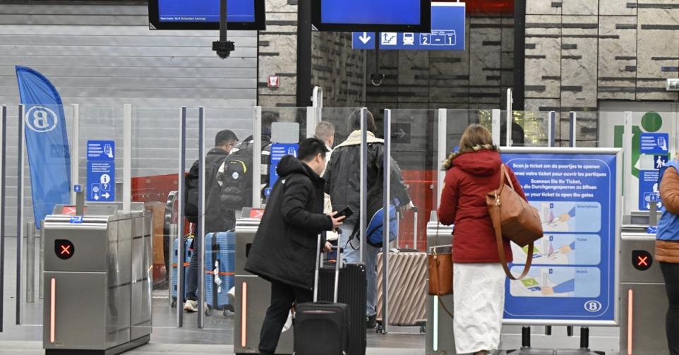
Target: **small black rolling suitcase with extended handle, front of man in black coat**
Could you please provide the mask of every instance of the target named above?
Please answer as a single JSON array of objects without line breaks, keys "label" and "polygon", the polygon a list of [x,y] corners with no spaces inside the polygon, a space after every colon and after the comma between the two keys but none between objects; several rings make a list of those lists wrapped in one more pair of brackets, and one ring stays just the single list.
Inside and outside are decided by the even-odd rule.
[{"label": "small black rolling suitcase with extended handle, front of man in black coat", "polygon": [[[340,263],[335,265],[333,302],[318,301],[320,236],[314,276],[312,303],[297,305],[294,319],[294,355],[347,355],[349,346],[349,306],[337,303],[337,284],[340,279]],[[337,251],[342,258],[341,249]]]}]

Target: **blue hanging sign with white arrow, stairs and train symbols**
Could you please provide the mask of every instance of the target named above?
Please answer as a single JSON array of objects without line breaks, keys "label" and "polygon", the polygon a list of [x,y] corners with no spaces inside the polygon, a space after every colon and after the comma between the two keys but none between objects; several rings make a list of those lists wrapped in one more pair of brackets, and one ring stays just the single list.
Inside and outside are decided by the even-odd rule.
[{"label": "blue hanging sign with white arrow, stairs and train symbols", "polygon": [[432,3],[431,32],[354,32],[354,49],[412,49],[432,51],[464,51],[464,3]]}]

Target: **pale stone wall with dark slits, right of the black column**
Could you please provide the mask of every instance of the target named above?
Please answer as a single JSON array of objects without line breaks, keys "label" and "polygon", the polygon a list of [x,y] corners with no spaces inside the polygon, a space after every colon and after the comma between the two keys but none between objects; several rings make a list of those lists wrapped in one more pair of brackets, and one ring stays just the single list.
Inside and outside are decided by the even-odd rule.
[{"label": "pale stone wall with dark slits, right of the black column", "polygon": [[678,101],[679,1],[527,0],[526,109],[579,112],[579,143],[593,145],[601,100]]}]

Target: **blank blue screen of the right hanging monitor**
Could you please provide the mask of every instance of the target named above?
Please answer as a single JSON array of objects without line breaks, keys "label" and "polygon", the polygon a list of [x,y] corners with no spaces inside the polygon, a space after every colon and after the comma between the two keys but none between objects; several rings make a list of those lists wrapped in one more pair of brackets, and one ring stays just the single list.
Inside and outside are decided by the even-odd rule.
[{"label": "blank blue screen of the right hanging monitor", "polygon": [[323,23],[419,25],[420,0],[321,0]]}]

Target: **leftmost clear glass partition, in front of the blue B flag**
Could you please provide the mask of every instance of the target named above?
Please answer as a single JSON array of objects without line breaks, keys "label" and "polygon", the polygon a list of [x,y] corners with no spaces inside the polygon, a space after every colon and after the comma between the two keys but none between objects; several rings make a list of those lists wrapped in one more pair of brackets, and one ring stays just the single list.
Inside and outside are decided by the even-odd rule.
[{"label": "leftmost clear glass partition, in front of the blue B flag", "polygon": [[[56,119],[60,110],[64,112],[64,126]],[[20,317],[17,321],[22,325],[41,325],[42,324],[42,305],[43,290],[42,283],[42,239],[40,238],[40,227],[42,227],[43,217],[38,216],[52,214],[54,203],[58,201],[68,202],[70,200],[70,187],[68,186],[68,176],[71,172],[64,165],[64,162],[71,164],[68,145],[70,140],[70,129],[73,124],[73,108],[71,106],[27,106],[24,109],[24,144],[22,148],[24,169],[22,179],[23,208],[18,210],[18,139],[17,124],[18,111],[8,108],[8,127],[7,127],[7,184],[6,189],[6,233],[7,235],[18,235],[17,233],[17,213],[22,212],[23,232],[19,239],[8,239],[6,241],[6,263],[16,262],[16,248],[13,243],[20,242],[20,294],[16,301],[20,308]],[[64,130],[64,131],[62,131]],[[37,133],[50,132],[50,140],[44,142],[39,140]],[[66,136],[62,136],[65,134]],[[27,137],[32,141],[32,160],[29,159]],[[63,137],[63,138],[62,138]],[[64,139],[64,140],[62,140]],[[64,145],[65,143],[65,145]],[[33,174],[31,174],[33,172]],[[32,195],[32,185],[35,184],[38,193]],[[35,204],[35,208],[34,208]],[[34,214],[34,211],[36,214]],[[14,229],[14,233],[12,232]],[[6,264],[7,265],[7,264]],[[16,270],[14,265],[7,265],[10,270]],[[15,275],[17,275],[15,273]],[[16,283],[11,284],[11,280],[16,279],[11,273],[7,273],[6,292],[13,291]],[[15,308],[11,305],[12,308]],[[7,309],[7,308],[6,308]]]}]

